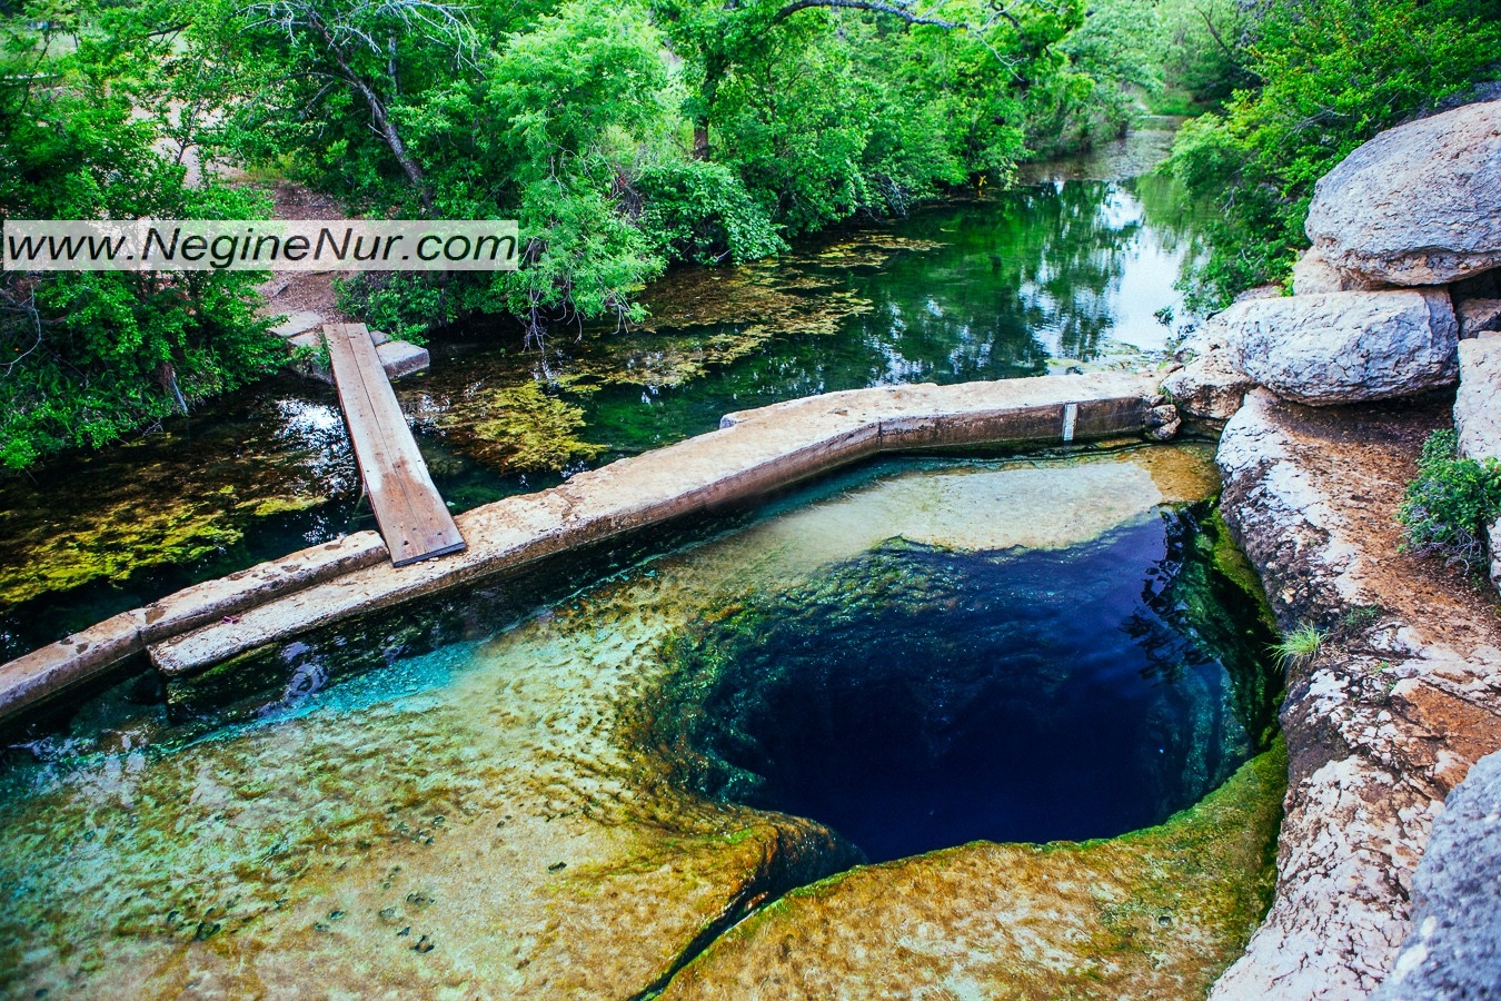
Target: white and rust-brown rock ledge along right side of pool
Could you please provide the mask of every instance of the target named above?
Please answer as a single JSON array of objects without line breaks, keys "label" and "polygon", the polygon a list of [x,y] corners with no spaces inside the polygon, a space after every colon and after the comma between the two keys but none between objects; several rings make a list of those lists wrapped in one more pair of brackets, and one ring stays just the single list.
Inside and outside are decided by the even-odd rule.
[{"label": "white and rust-brown rock ledge along right side of pool", "polygon": [[1396,552],[1412,425],[1411,408],[1319,411],[1255,392],[1225,428],[1225,521],[1283,627],[1316,624],[1325,641],[1288,677],[1276,899],[1211,998],[1373,990],[1408,932],[1444,795],[1501,744],[1493,612],[1451,585],[1435,591]]}]

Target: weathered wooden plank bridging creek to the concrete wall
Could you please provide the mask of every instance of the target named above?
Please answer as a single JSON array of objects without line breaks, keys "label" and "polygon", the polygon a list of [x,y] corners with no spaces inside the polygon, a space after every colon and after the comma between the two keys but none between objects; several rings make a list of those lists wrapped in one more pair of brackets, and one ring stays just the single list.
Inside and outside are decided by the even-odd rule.
[{"label": "weathered wooden plank bridging creek to the concrete wall", "polygon": [[363,323],[327,323],[323,338],[354,459],[390,561],[405,566],[459,552],[465,548],[464,537],[401,416],[369,330]]}]

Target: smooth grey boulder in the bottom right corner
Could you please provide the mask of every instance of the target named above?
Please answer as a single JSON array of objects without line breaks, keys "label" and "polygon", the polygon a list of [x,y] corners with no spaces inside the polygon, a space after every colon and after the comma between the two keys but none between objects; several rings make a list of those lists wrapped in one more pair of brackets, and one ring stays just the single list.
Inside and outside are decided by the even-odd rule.
[{"label": "smooth grey boulder in the bottom right corner", "polygon": [[1501,989],[1501,755],[1448,794],[1412,878],[1412,933],[1375,1001],[1460,1001]]}]

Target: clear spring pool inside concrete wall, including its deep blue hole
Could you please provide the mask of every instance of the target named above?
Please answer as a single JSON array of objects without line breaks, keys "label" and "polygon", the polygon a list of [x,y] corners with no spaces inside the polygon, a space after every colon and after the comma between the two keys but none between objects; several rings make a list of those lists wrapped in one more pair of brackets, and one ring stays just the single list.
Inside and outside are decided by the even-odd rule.
[{"label": "clear spring pool inside concrete wall, including its deep blue hole", "polygon": [[809,879],[1160,819],[1273,725],[1214,489],[1195,446],[887,459],[422,648],[294,644],[239,722],[125,683],[0,768],[0,992],[557,990],[696,941],[775,810],[833,828]]}]

